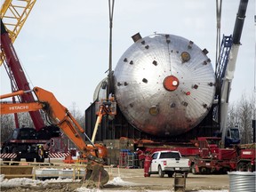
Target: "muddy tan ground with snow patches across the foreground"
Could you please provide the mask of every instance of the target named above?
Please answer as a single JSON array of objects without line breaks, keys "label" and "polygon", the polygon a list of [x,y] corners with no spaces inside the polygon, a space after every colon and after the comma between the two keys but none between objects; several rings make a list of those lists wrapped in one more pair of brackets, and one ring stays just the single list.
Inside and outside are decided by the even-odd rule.
[{"label": "muddy tan ground with snow patches across the foreground", "polygon": [[[145,178],[143,169],[118,169],[107,168],[110,175],[109,182],[100,188],[100,191],[148,191],[148,190],[173,190],[174,178],[159,178],[158,175],[151,175]],[[116,182],[115,180],[118,179]],[[180,178],[180,180],[182,180]],[[228,174],[225,175],[193,175],[188,174],[186,179],[186,191],[198,190],[220,190],[228,189]],[[76,182],[57,182],[36,184],[35,186],[2,187],[1,191],[20,192],[20,191],[99,191],[99,188],[86,189],[82,188],[82,183]],[[77,189],[78,188],[78,189]]]}]

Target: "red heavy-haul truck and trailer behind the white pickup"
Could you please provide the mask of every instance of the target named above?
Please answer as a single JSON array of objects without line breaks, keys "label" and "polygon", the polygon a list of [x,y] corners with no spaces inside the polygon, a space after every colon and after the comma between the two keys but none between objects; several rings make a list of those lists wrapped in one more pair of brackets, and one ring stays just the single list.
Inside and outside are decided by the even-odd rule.
[{"label": "red heavy-haul truck and trailer behind the white pickup", "polygon": [[[193,174],[227,173],[229,171],[255,171],[255,144],[236,145],[234,148],[222,148],[219,137],[199,137],[193,140],[194,147],[165,146],[153,147],[145,144],[137,150],[140,167],[146,155],[160,150],[176,150],[181,156],[190,159],[190,171]],[[141,146],[141,143],[140,143]],[[145,146],[147,146],[145,148]]]}]

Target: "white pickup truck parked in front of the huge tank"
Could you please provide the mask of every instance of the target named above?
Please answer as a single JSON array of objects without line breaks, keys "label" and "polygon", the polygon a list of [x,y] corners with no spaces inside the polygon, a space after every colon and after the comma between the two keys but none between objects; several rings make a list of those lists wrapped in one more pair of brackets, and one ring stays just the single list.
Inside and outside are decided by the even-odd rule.
[{"label": "white pickup truck parked in front of the huge tank", "polygon": [[185,176],[188,176],[189,159],[181,157],[179,151],[156,151],[151,157],[149,176],[158,174],[163,178],[164,174],[168,174],[168,177],[172,177],[174,172],[185,173]]}]

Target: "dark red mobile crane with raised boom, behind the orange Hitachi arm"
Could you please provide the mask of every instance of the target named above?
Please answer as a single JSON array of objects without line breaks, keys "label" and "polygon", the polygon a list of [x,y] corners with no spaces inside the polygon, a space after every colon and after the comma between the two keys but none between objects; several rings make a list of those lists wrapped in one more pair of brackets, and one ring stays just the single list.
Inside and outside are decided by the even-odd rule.
[{"label": "dark red mobile crane with raised boom, behind the orange Hitachi arm", "polygon": [[[21,67],[20,60],[15,52],[12,45],[12,40],[4,26],[4,22],[1,19],[1,51],[4,53],[4,67],[7,71],[8,76],[12,83],[12,92],[17,91],[29,91],[29,83],[25,76],[24,70]],[[18,95],[19,103],[30,103],[35,102],[35,98],[31,92],[27,94]],[[12,102],[17,102],[14,97],[12,97]],[[58,154],[57,157],[68,156],[67,145],[60,140],[61,132],[60,128],[51,126],[46,126],[44,120],[39,110],[28,111],[31,119],[34,123],[35,128],[20,128],[18,118],[16,113],[14,114],[16,128],[12,133],[12,136],[4,142],[4,146],[1,151],[1,158],[4,160],[14,159],[20,161],[20,158],[26,158],[28,162],[34,161],[44,161],[44,159],[39,159],[36,153],[36,146],[44,145],[49,142],[49,140],[54,140],[55,148],[51,148],[51,154]],[[57,142],[59,144],[57,144]],[[12,145],[19,145],[19,148],[12,148]],[[9,146],[9,147],[8,147]],[[57,148],[58,147],[58,148]],[[22,149],[21,149],[22,148]],[[29,148],[29,150],[28,150]],[[18,154],[18,151],[22,151]],[[19,156],[18,156],[19,155]],[[48,153],[49,155],[49,153]],[[45,156],[48,157],[48,156]]]}]

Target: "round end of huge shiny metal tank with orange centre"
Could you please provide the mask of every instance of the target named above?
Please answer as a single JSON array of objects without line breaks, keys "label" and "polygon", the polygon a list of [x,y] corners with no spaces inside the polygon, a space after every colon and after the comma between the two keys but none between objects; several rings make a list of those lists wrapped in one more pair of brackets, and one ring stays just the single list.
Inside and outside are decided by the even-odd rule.
[{"label": "round end of huge shiny metal tank with orange centre", "polygon": [[115,95],[130,124],[158,136],[178,135],[199,124],[212,107],[211,60],[181,36],[132,36],[114,71]]}]

